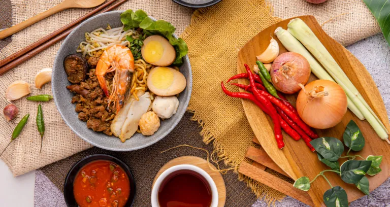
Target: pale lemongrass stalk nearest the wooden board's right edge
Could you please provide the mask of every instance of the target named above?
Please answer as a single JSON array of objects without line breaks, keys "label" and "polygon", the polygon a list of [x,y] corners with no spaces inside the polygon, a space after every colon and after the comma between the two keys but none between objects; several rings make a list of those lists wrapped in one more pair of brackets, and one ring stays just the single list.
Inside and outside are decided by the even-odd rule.
[{"label": "pale lemongrass stalk nearest the wooden board's right edge", "polygon": [[305,47],[308,49],[314,57],[322,64],[322,66],[328,71],[328,73],[336,80],[336,82],[343,87],[348,96],[352,99],[353,103],[363,113],[364,117],[374,128],[376,133],[382,140],[388,140],[388,131],[384,127],[383,123],[379,120],[376,114],[368,106],[363,96],[359,93],[358,89],[348,79],[341,67],[337,64],[332,55],[322,45],[322,43],[315,36],[313,31],[307,26],[307,24],[299,18],[291,20],[288,25],[288,32],[293,34]]}]

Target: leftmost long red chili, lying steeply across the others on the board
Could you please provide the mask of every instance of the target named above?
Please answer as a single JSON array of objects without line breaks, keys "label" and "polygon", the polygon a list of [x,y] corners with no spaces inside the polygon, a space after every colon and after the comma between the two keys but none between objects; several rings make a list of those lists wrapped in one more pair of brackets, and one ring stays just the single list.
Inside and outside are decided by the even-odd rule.
[{"label": "leftmost long red chili, lying steeply across the others on the board", "polygon": [[[282,134],[282,129],[281,129],[281,126],[280,126],[280,120],[279,120],[279,116],[278,116],[278,113],[276,112],[276,109],[274,108],[274,106],[272,105],[272,103],[270,102],[269,99],[267,99],[266,97],[264,97],[260,92],[262,92],[261,90],[258,90],[256,87],[255,87],[255,84],[254,84],[254,75],[252,74],[252,72],[250,71],[250,68],[247,64],[244,64],[245,66],[245,69],[246,69],[246,72],[248,73],[248,76],[249,76],[249,82],[250,84],[252,85],[252,92],[253,92],[253,95],[254,97],[260,101],[261,103],[263,103],[263,105],[269,110],[270,112],[270,117],[271,119],[273,120],[274,122],[274,133],[275,133],[275,139],[276,139],[276,142],[278,143],[278,148],[279,149],[282,149],[284,147],[284,142],[283,142],[283,134]],[[264,91],[263,91],[264,92]]]}]

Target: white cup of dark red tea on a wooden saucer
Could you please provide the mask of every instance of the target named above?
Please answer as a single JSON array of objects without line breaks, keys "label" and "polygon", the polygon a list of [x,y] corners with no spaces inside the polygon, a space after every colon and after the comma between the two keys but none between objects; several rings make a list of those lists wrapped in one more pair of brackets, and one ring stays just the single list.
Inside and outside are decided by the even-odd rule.
[{"label": "white cup of dark red tea on a wooden saucer", "polygon": [[168,168],[152,188],[152,207],[217,207],[218,191],[213,179],[203,169],[181,164]]}]

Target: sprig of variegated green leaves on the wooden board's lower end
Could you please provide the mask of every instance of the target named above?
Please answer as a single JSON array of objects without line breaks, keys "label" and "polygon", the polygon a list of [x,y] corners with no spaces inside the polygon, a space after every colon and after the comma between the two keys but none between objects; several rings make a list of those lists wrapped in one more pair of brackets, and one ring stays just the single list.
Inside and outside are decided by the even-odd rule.
[{"label": "sprig of variegated green leaves on the wooden board's lower end", "polygon": [[[323,202],[328,207],[348,206],[348,196],[342,187],[333,187],[324,175],[324,172],[337,173],[345,183],[354,184],[363,193],[369,195],[370,183],[368,182],[366,174],[374,176],[382,170],[379,167],[382,162],[382,156],[369,155],[364,159],[360,155],[348,155],[351,150],[354,152],[361,151],[365,145],[362,131],[353,120],[348,123],[344,131],[343,141],[345,146],[349,148],[346,156],[341,156],[344,151],[344,145],[335,137],[319,137],[318,139],[312,140],[310,144],[317,151],[318,160],[332,169],[319,172],[311,181],[308,177],[301,177],[294,183],[294,187],[303,191],[308,191],[311,184],[318,177],[323,177],[331,186],[331,189],[323,194]],[[338,161],[339,158],[348,158],[348,160],[340,166]],[[356,160],[356,158],[361,158],[363,160]]]}]

